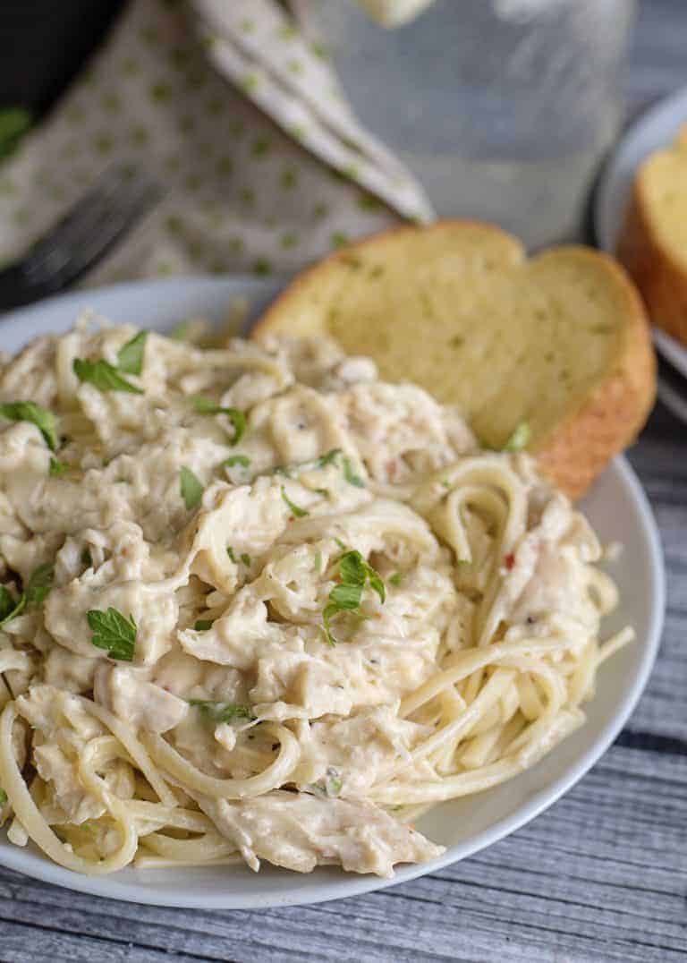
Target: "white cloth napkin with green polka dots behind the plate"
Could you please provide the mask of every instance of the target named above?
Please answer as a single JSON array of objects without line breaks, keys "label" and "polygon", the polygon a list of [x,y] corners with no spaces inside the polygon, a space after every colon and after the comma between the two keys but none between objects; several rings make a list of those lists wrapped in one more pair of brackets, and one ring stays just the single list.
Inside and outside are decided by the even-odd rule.
[{"label": "white cloth napkin with green polka dots behind the plate", "polygon": [[428,220],[420,189],[335,95],[322,54],[270,0],[135,0],[0,169],[0,259],[122,163],[165,196],[89,283],[288,272],[399,217]]}]

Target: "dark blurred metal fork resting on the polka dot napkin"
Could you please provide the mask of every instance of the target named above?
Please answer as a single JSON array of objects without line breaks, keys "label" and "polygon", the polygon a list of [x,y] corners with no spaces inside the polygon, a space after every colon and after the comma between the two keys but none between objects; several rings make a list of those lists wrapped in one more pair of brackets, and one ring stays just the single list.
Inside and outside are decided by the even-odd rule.
[{"label": "dark blurred metal fork resting on the polka dot napkin", "polygon": [[0,271],[0,310],[73,284],[157,203],[160,188],[131,168],[106,170],[21,260]]}]

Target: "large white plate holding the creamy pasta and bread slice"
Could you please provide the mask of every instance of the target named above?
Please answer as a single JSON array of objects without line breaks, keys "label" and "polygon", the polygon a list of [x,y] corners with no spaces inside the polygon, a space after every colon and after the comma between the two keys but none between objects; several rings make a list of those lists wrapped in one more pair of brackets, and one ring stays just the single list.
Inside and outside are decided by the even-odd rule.
[{"label": "large white plate holding the creamy pasta and bread slice", "polygon": [[[231,298],[251,300],[260,309],[280,283],[246,278],[152,281],[124,284],[43,301],[0,322],[0,346],[16,351],[47,331],[64,331],[77,313],[93,307],[115,322],[168,329],[191,315],[219,319]],[[663,622],[664,576],[661,546],[647,498],[624,458],[616,458],[584,501],[603,541],[624,545],[612,570],[623,604],[604,624],[611,633],[631,624],[637,641],[624,648],[598,675],[598,691],[588,722],[536,767],[487,793],[444,803],[420,820],[420,830],[447,846],[445,855],[421,866],[401,867],[393,880],[322,868],[307,875],[266,867],[258,874],[243,867],[181,871],[127,869],[88,877],[63,870],[37,850],[0,838],[0,864],[38,879],[97,896],[163,906],[241,909],[287,906],[368,893],[435,872],[495,843],[531,820],[597,762],[614,741],[643,690],[658,648]]]}]

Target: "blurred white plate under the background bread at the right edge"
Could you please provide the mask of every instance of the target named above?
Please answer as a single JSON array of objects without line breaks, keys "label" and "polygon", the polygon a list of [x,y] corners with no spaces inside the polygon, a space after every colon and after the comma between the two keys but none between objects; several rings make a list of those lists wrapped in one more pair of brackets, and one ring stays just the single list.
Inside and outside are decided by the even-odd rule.
[{"label": "blurred white plate under the background bread at the right edge", "polygon": [[[598,245],[609,254],[616,250],[636,169],[652,151],[671,143],[685,122],[687,89],[661,100],[643,114],[618,143],[598,182],[594,201]],[[687,348],[658,327],[653,328],[653,340],[658,350],[686,379],[684,397],[659,380],[659,397],[678,418],[687,421]]]}]

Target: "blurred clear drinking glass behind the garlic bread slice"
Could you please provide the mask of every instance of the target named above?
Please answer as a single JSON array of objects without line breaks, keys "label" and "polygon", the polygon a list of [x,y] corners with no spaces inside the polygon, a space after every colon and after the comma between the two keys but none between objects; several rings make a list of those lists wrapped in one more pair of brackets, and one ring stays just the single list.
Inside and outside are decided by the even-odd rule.
[{"label": "blurred clear drinking glass behind the garlic bread slice", "polygon": [[579,236],[622,117],[635,0],[436,0],[388,29],[353,0],[308,0],[350,103],[443,216],[529,247]]}]

